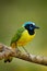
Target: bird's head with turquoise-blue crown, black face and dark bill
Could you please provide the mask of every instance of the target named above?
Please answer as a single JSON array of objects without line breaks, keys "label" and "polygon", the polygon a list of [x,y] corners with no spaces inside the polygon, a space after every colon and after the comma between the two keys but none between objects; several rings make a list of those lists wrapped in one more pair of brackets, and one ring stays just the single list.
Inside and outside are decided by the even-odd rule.
[{"label": "bird's head with turquoise-blue crown, black face and dark bill", "polygon": [[28,31],[30,34],[32,34],[32,32],[34,32],[35,29],[38,29],[39,27],[35,25],[34,22],[26,22],[23,24],[23,26],[25,27],[25,29]]}]

